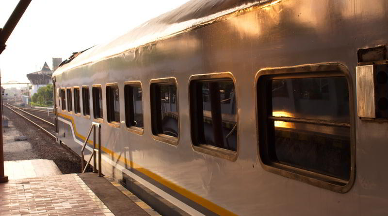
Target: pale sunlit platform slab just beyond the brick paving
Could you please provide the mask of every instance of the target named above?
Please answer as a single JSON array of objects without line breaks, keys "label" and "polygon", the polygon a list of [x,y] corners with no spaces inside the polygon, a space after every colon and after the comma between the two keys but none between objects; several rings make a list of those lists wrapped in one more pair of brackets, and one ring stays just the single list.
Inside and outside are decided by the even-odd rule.
[{"label": "pale sunlit platform slab just beyond the brick paving", "polygon": [[4,174],[9,180],[61,175],[58,166],[51,160],[35,159],[4,161]]}]

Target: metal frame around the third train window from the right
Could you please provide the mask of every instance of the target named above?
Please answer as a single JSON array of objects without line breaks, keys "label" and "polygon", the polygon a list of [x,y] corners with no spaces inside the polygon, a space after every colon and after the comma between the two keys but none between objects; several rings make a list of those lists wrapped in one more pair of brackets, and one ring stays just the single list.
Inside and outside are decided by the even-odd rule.
[{"label": "metal frame around the third train window from the right", "polygon": [[[169,84],[169,83],[174,83],[177,86],[178,137],[169,136],[169,135],[162,134],[162,133],[156,133],[157,132],[156,129],[155,129],[156,126],[154,124],[154,122],[156,121],[156,119],[155,119],[156,109],[154,109],[154,107],[153,107],[154,106],[154,102],[153,102],[154,92],[153,92],[152,86],[153,85],[158,85],[158,84]],[[179,93],[178,92],[179,92],[178,91],[178,82],[177,82],[177,79],[174,78],[174,77],[152,79],[149,82],[152,138],[154,140],[157,140],[157,141],[160,141],[160,142],[163,142],[163,143],[167,143],[167,144],[170,144],[170,145],[173,145],[173,146],[178,146],[178,143],[179,143],[179,140],[180,140],[180,115],[179,115],[180,112],[179,112]]]}]

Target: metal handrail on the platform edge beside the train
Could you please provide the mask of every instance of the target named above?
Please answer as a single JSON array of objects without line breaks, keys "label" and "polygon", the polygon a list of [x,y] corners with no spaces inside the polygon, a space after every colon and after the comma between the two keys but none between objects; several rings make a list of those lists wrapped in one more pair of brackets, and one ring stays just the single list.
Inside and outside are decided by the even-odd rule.
[{"label": "metal handrail on the platform edge beside the train", "polygon": [[[98,127],[98,150],[96,149],[96,127]],[[92,133],[93,130],[93,152],[92,155],[89,158],[88,163],[85,165],[85,156],[83,151],[86,148],[86,144],[88,143],[90,134]],[[92,122],[92,125],[90,126],[89,133],[85,139],[85,142],[83,143],[82,149],[81,149],[81,171],[84,173],[86,171],[86,168],[89,166],[90,161],[93,158],[93,172],[97,173],[97,161],[96,161],[96,152],[98,152],[98,176],[102,177],[102,170],[101,170],[101,124],[97,122]]]}]

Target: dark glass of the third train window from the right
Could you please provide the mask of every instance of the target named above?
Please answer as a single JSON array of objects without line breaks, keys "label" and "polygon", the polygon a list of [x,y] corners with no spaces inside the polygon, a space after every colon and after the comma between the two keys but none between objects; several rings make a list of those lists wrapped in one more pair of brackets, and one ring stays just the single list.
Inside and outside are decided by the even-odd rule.
[{"label": "dark glass of the third train window from the right", "polygon": [[178,137],[178,95],[175,83],[151,84],[152,133]]}]

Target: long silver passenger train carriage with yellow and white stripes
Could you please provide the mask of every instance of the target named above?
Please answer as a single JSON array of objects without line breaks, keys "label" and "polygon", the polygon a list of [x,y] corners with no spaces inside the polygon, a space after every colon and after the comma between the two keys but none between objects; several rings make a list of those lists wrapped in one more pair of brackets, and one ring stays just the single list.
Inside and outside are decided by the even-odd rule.
[{"label": "long silver passenger train carriage with yellow and white stripes", "polygon": [[386,0],[191,0],[55,71],[57,139],[190,215],[387,215],[387,43]]}]

